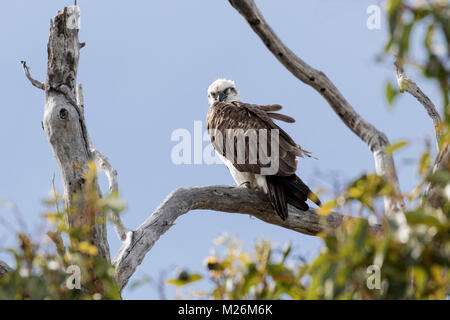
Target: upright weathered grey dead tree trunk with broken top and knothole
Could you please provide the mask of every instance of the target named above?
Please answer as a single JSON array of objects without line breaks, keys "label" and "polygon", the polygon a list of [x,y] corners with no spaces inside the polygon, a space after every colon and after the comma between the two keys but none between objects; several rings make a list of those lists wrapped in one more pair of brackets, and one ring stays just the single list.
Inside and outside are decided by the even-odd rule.
[{"label": "upright weathered grey dead tree trunk with broken top and knothole", "polygon": [[[85,173],[93,155],[83,106],[77,101],[78,18],[78,7],[73,6],[59,12],[51,23],[43,126],[63,179],[69,226],[91,228],[89,240],[109,260],[106,225],[96,223],[96,218],[103,217],[89,208],[84,196]],[[97,190],[101,196],[98,186]]]}]

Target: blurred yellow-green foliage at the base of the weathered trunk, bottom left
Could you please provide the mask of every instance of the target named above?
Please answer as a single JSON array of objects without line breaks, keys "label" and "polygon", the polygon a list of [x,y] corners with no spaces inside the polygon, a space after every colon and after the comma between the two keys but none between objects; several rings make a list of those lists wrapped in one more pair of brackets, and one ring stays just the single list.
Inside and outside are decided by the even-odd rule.
[{"label": "blurred yellow-green foliage at the base of the weathered trunk, bottom left", "polygon": [[[85,178],[85,190],[77,197],[80,201],[81,198],[87,200],[90,210],[106,216],[108,210],[123,208],[117,194],[100,198],[94,190],[97,178],[95,164],[90,165]],[[49,210],[44,216],[54,229],[48,232],[47,241],[35,242],[20,233],[18,248],[8,249],[14,256],[15,266],[7,276],[0,278],[0,299],[120,299],[114,269],[98,255],[97,247],[89,241],[90,228],[69,228],[69,212],[60,211],[59,202],[56,192],[52,199],[45,201]],[[70,214],[78,213],[72,211]],[[67,246],[64,238],[68,240]],[[50,247],[49,239],[56,250],[53,245]],[[79,289],[71,277],[76,270],[80,271]]]}]

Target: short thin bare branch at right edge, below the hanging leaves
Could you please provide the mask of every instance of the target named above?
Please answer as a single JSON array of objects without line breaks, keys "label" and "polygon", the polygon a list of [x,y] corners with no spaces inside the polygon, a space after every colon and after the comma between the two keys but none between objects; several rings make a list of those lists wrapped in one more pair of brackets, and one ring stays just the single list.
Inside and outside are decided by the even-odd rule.
[{"label": "short thin bare branch at right edge, below the hanging leaves", "polygon": [[405,75],[403,67],[398,61],[395,62],[395,67],[397,69],[397,82],[400,92],[406,91],[414,98],[416,98],[425,108],[431,120],[433,120],[434,130],[436,132],[436,144],[439,151],[439,141],[441,140],[441,132],[439,126],[442,122],[439,112],[437,111],[430,98],[419,88],[419,86]]}]

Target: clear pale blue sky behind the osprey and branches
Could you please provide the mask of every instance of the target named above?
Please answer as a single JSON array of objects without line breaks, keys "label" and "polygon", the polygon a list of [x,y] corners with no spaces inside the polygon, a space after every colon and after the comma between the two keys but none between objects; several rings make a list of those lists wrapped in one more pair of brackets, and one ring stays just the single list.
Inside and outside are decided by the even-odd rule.
[{"label": "clear pale blue sky behind the osprey and branches", "polygon": [[[324,71],[352,106],[391,142],[411,146],[396,155],[401,188],[417,183],[415,166],[406,160],[423,150],[433,126],[412,97],[401,96],[387,108],[384,87],[394,80],[390,63],[377,63],[387,37],[366,27],[366,9],[380,1],[257,1],[267,21],[302,59]],[[0,199],[13,201],[30,230],[37,230],[52,188],[62,192],[55,159],[41,128],[44,94],[25,79],[20,60],[33,76],[45,79],[49,20],[72,1],[7,1],[0,10]],[[374,170],[368,148],[338,119],[326,101],[299,82],[267,51],[228,1],[86,1],[80,0],[82,49],[78,81],[83,83],[87,125],[96,147],[119,172],[128,209],[124,223],[136,228],[179,187],[233,184],[223,165],[174,165],[170,140],[175,129],[193,132],[208,110],[206,90],[218,77],[236,81],[244,101],[278,103],[294,117],[284,125],[292,137],[319,160],[300,160],[298,175],[313,188],[330,188],[333,174],[344,181]],[[420,30],[418,30],[420,32]],[[441,105],[429,80],[411,72],[430,98]],[[206,145],[206,143],[205,143]],[[322,174],[318,174],[321,172]],[[101,179],[104,192],[107,182]],[[11,213],[0,208],[8,220]],[[292,241],[298,254],[313,258],[321,246],[300,235],[248,216],[191,212],[177,220],[154,246],[133,279],[157,276],[169,266],[204,271],[212,240],[222,232],[236,235],[250,248],[258,237],[280,245]],[[11,233],[0,228],[1,246]],[[119,241],[111,226],[114,255]],[[0,259],[11,262],[0,252]],[[169,291],[169,296],[173,292]],[[157,298],[145,286],[124,291],[130,299]]]}]

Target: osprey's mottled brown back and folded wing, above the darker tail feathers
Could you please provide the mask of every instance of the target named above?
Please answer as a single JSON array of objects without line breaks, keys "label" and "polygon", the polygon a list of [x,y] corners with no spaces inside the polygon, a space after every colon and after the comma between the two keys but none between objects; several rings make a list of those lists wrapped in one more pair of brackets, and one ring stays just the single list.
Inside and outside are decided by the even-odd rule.
[{"label": "osprey's mottled brown back and folded wing, above the darker tail feathers", "polygon": [[[278,130],[279,133],[279,169],[275,175],[289,176],[297,170],[297,156],[309,155],[307,151],[298,146],[294,140],[279,126],[277,126],[272,119],[279,119],[283,121],[293,122],[294,119],[272,112],[280,110],[279,105],[259,106],[254,104],[247,104],[242,102],[224,103],[216,102],[208,111],[207,115],[207,129],[210,130],[211,142],[214,148],[220,152],[224,157],[230,160],[236,169],[240,172],[261,173],[262,168],[267,168],[270,164],[260,161],[261,154],[258,154],[256,163],[250,163],[250,148],[248,144],[251,139],[245,138],[245,161],[238,161],[237,149],[238,139],[227,139],[228,129],[236,132],[241,129],[243,132],[248,132],[250,129],[256,131],[267,130],[266,141],[260,141],[258,136],[257,151],[267,150],[267,156],[271,153],[271,130]],[[292,121],[291,121],[292,120]],[[214,133],[215,132],[215,133]],[[259,132],[259,131],[258,131]],[[218,140],[217,133],[221,135],[221,142]],[[233,143],[233,146],[227,145],[227,142]],[[266,148],[260,148],[259,143],[266,143]],[[233,148],[234,154],[227,155],[227,148]],[[231,150],[231,149],[228,149]],[[242,159],[241,159],[242,160]],[[242,163],[243,162],[243,163]]]}]

